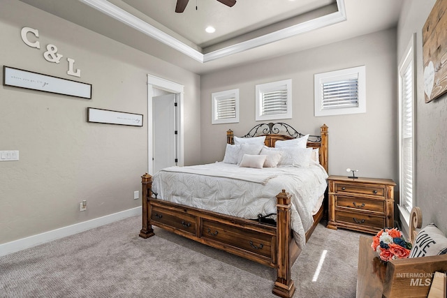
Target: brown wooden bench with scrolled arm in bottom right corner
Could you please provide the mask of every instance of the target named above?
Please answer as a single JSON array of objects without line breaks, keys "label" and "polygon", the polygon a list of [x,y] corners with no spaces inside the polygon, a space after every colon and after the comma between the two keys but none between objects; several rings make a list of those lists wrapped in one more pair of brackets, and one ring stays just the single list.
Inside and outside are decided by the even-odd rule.
[{"label": "brown wooden bench with scrolled arm in bottom right corner", "polygon": [[[416,239],[416,228],[422,226],[422,212],[411,210],[410,241]],[[427,297],[435,272],[447,271],[447,255],[408,258],[382,262],[371,248],[372,237],[360,236],[358,252],[357,297]],[[433,286],[433,293],[446,297],[445,274],[437,274],[444,281]],[[439,287],[439,288],[438,288]],[[430,295],[432,295],[430,292]]]}]

